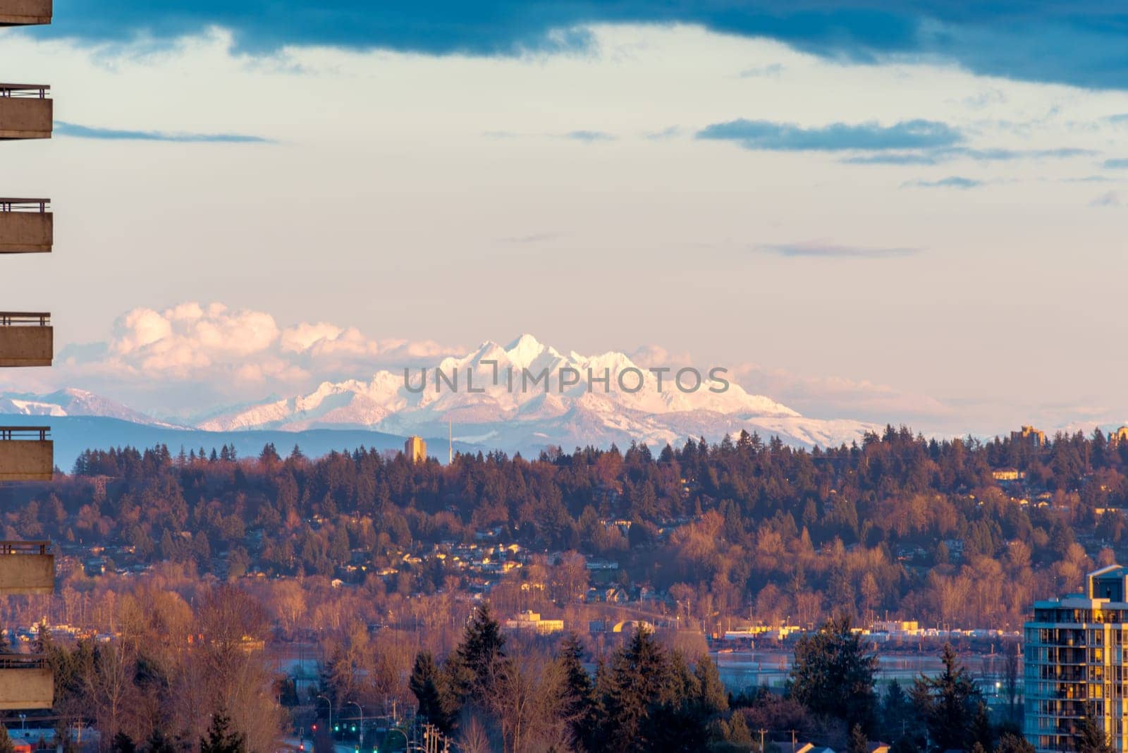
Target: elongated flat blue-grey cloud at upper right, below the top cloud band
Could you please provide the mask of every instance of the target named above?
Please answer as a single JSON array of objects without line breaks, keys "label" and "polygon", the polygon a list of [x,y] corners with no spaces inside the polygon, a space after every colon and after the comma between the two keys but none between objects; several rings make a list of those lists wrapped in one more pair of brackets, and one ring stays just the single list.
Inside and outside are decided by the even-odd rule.
[{"label": "elongated flat blue-grey cloud at upper right, below the top cloud band", "polygon": [[948,147],[963,140],[946,123],[923,119],[889,126],[831,123],[804,129],[794,123],[738,118],[707,125],[697,132],[697,138],[734,141],[744,149],[766,151],[884,151]]}]

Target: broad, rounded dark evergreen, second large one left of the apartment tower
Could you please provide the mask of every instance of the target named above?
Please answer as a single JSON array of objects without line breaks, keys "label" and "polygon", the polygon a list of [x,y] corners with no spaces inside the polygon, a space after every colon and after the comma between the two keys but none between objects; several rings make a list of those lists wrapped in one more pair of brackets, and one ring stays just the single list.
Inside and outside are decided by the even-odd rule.
[{"label": "broad, rounded dark evergreen, second large one left of the apartment tower", "polygon": [[873,676],[878,657],[851,630],[847,614],[831,618],[813,636],[795,645],[795,663],[787,681],[792,698],[813,714],[841,719],[849,728],[873,726],[878,699]]}]

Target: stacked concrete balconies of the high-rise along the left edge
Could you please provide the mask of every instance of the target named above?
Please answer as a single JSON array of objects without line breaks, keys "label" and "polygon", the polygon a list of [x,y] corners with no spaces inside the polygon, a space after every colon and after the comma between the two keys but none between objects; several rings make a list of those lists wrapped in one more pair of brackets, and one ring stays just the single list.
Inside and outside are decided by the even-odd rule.
[{"label": "stacked concrete balconies of the high-rise along the left edge", "polygon": [[[51,16],[52,0],[0,0],[0,26],[50,24]],[[0,140],[50,139],[54,123],[50,91],[39,83],[0,83]],[[8,254],[50,254],[53,245],[50,200],[0,197],[0,264]],[[53,353],[50,313],[0,310],[0,367],[50,366]],[[50,431],[0,426],[0,482],[51,479]],[[54,587],[50,541],[0,541],[0,595],[51,594]],[[0,710],[49,709],[53,703],[54,679],[44,657],[0,656]]]}]

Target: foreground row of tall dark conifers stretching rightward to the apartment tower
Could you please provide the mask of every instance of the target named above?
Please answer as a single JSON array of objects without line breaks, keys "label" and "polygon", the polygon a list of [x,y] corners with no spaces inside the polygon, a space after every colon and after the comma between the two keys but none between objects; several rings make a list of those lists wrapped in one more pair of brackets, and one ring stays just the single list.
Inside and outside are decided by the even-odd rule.
[{"label": "foreground row of tall dark conifers stretching rightward to the apartment tower", "polygon": [[[799,641],[782,692],[733,694],[707,654],[687,661],[644,626],[606,656],[589,656],[575,634],[549,652],[514,646],[484,603],[449,656],[416,655],[409,686],[418,714],[467,753],[737,753],[792,739],[847,753],[878,741],[896,753],[1033,753],[1021,708],[993,714],[955,649],[940,658],[938,673],[879,690],[876,657],[841,615]],[[1078,753],[1112,750],[1092,716],[1073,734]]]}]

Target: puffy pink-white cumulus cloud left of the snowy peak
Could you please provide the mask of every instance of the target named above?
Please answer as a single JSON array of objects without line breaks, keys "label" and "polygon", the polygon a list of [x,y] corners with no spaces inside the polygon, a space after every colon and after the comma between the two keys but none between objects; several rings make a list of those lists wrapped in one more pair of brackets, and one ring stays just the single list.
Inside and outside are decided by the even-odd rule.
[{"label": "puffy pink-white cumulus cloud left of the snowy peak", "polygon": [[458,352],[326,321],[284,327],[265,311],[190,301],[126,311],[105,342],[64,347],[52,378],[141,404],[148,396],[146,409],[168,413],[307,390],[325,379],[369,379]]}]

